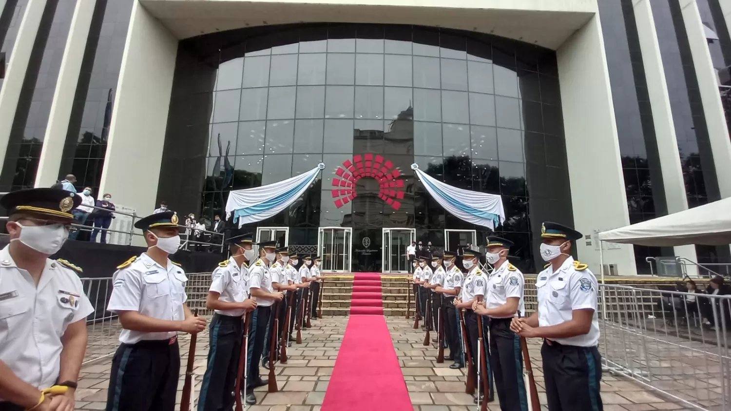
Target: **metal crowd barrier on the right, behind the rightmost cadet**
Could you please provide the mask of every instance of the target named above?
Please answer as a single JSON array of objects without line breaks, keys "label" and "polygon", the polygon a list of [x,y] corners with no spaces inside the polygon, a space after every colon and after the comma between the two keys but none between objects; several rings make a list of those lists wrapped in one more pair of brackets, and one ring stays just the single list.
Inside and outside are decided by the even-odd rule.
[{"label": "metal crowd barrier on the right, behind the rightmost cadet", "polygon": [[599,288],[605,372],[699,410],[731,409],[731,295]]}]

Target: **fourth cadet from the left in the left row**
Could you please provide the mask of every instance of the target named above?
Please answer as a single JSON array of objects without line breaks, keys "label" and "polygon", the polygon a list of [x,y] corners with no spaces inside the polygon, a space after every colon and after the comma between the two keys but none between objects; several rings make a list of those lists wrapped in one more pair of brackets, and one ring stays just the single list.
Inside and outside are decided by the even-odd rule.
[{"label": "fourth cadet from the left in the left row", "polygon": [[259,361],[264,351],[272,306],[284,297],[282,293],[273,289],[269,271],[270,265],[276,258],[276,241],[264,241],[258,245],[259,260],[249,267],[249,294],[257,298],[257,309],[251,315],[249,358],[246,364],[249,369],[246,376],[246,404],[249,405],[257,403],[254,388],[268,383],[268,380],[262,380],[260,377]]}]

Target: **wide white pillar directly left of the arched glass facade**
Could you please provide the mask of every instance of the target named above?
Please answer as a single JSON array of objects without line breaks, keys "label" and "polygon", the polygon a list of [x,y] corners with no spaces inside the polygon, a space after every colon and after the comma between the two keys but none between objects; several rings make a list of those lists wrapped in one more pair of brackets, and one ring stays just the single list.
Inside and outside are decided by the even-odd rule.
[{"label": "wide white pillar directly left of the arched glass facade", "polygon": [[140,216],[155,209],[177,53],[178,39],[135,1],[99,192]]}]

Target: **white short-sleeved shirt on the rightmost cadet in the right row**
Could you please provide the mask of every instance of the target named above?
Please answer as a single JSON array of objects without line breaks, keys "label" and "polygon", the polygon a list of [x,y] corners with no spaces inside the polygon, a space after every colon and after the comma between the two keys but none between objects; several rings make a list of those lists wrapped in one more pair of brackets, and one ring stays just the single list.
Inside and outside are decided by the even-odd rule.
[{"label": "white short-sleeved shirt on the rightmost cadet in the right row", "polygon": [[593,309],[589,332],[582,336],[555,339],[559,344],[596,347],[599,344],[599,317],[596,312],[596,277],[588,269],[577,270],[572,257],[554,272],[548,268],[538,274],[538,323],[541,327],[565,323],[572,319],[575,309]]}]

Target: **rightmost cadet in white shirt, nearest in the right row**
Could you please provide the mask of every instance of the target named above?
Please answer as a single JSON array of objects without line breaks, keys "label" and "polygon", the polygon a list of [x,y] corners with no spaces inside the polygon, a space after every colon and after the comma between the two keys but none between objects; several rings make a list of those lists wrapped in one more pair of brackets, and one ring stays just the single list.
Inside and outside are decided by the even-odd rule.
[{"label": "rightmost cadet in white shirt, nearest in the right row", "polygon": [[571,242],[583,236],[555,222],[544,222],[541,257],[548,268],[538,274],[538,312],[513,319],[521,336],[544,339],[541,348],[546,399],[551,411],[601,411],[602,364],[596,277],[571,255]]}]

